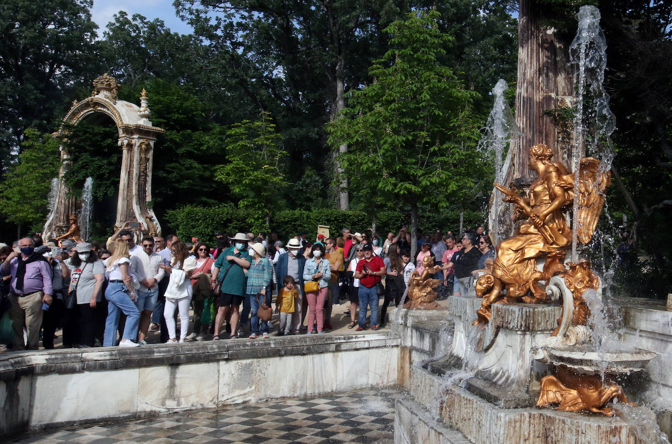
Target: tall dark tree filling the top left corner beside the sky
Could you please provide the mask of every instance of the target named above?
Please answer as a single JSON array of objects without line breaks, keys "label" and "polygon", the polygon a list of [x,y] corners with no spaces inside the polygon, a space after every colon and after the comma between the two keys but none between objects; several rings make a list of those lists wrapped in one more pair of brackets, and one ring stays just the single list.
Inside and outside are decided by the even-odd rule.
[{"label": "tall dark tree filling the top left corner beside the sky", "polygon": [[[20,149],[26,128],[52,130],[67,96],[95,65],[91,0],[0,3],[0,162]],[[65,97],[65,98],[64,98]]]}]

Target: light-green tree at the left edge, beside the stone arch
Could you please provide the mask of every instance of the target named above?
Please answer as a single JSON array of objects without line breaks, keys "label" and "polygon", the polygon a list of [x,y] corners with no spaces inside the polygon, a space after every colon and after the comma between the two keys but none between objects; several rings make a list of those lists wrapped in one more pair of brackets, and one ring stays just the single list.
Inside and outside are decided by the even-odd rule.
[{"label": "light-green tree at the left edge, beside the stone arch", "polygon": [[58,154],[58,142],[50,134],[26,130],[18,161],[9,165],[0,185],[0,212],[7,222],[42,231],[50,183],[58,177]]}]

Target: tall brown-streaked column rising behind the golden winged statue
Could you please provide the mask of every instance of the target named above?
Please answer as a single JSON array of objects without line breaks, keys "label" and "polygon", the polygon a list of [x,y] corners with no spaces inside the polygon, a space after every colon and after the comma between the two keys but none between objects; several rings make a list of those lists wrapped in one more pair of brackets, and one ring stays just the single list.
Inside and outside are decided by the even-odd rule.
[{"label": "tall brown-streaked column rising behind the golden winged statue", "polygon": [[554,161],[573,165],[571,120],[544,116],[547,110],[573,105],[570,42],[560,40],[554,28],[544,25],[545,19],[540,1],[519,1],[515,122],[523,135],[511,141],[506,184],[532,176],[528,153],[534,144],[545,143],[554,150]]}]

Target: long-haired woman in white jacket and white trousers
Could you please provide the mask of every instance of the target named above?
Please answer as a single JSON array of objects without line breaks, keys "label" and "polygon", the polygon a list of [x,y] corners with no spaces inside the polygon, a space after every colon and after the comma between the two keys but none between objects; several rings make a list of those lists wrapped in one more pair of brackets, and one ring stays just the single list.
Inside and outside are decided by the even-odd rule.
[{"label": "long-haired woman in white jacket and white trousers", "polygon": [[179,342],[183,343],[189,331],[189,306],[192,302],[192,282],[190,277],[196,269],[196,259],[189,255],[187,245],[176,240],[171,245],[173,259],[171,265],[159,265],[167,274],[170,281],[165,292],[166,303],[163,316],[168,328],[169,343],[176,343],[175,335],[175,308],[179,310]]}]

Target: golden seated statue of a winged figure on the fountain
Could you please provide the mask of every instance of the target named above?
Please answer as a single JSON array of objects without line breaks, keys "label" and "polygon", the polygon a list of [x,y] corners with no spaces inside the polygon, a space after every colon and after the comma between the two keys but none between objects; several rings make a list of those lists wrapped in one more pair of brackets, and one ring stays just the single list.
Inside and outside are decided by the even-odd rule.
[{"label": "golden seated statue of a winged figure on the fountain", "polygon": [[[597,159],[581,160],[579,196],[574,195],[574,175],[560,162],[552,162],[553,152],[545,144],[530,148],[530,168],[537,179],[530,185],[528,197],[495,183],[504,193],[505,202],[515,204],[528,221],[519,233],[497,245],[497,257],[490,279],[481,283],[483,301],[474,324],[487,324],[491,306],[497,302],[545,302],[546,293],[538,281],[548,281],[564,270],[565,249],[571,246],[572,230],[564,217],[578,199],[575,215],[579,242],[589,242],[595,232],[597,218],[604,204],[604,190],[610,185],[609,171],[600,171]],[[544,269],[537,269],[537,259],[546,257]],[[477,284],[478,285],[478,284]],[[506,293],[503,292],[506,290]]]}]

